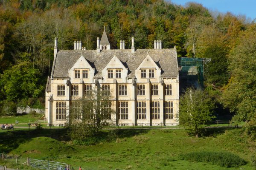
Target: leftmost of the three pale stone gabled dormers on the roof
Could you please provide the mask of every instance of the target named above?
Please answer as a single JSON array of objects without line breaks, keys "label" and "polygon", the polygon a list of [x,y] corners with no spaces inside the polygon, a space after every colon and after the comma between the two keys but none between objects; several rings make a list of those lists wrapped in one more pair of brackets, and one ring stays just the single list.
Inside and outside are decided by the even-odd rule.
[{"label": "leftmost of the three pale stone gabled dormers on the roof", "polygon": [[80,82],[80,79],[84,79],[84,82],[92,82],[94,77],[94,69],[89,64],[84,56],[80,56],[76,60],[75,64],[68,71],[69,77],[72,82]]}]

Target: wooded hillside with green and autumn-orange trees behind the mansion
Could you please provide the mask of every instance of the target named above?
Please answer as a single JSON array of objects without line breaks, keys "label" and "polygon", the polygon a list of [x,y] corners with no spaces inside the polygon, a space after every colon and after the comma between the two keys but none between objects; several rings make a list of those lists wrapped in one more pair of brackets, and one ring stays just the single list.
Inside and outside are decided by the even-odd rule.
[{"label": "wooded hillside with green and autumn-orange trees behind the mansion", "polygon": [[[0,107],[44,108],[44,89],[59,49],[82,40],[96,49],[103,26],[111,48],[176,45],[178,57],[212,58],[209,87],[236,120],[256,124],[256,24],[245,16],[209,11],[198,3],[178,6],[163,0],[0,1]],[[11,113],[12,109],[8,112]],[[251,121],[251,122],[253,122]]]}]

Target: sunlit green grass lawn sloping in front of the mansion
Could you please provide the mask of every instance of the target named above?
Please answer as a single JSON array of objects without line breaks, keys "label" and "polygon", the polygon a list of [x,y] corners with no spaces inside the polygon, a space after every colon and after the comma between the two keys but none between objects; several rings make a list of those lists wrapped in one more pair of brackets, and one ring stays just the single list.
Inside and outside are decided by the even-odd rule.
[{"label": "sunlit green grass lawn sloping in front of the mansion", "polygon": [[[75,170],[79,166],[93,170],[253,170],[250,160],[256,154],[256,144],[244,136],[242,129],[211,128],[207,133],[207,137],[196,139],[187,136],[183,129],[121,129],[96,145],[77,146],[70,142],[64,128],[14,130],[0,133],[0,153],[18,155],[23,159],[29,156],[64,162]],[[178,159],[180,153],[200,150],[227,151],[248,163],[242,167],[224,168]],[[11,159],[0,161],[0,164],[22,168]]]}]

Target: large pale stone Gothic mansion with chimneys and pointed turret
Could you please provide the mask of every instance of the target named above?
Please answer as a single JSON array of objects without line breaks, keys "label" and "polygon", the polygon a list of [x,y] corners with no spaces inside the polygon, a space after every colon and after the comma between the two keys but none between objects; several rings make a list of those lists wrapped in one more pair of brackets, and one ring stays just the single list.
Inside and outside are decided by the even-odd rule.
[{"label": "large pale stone Gothic mansion with chimneys and pointed turret", "polygon": [[154,49],[110,49],[105,29],[97,49],[87,50],[81,41],[74,50],[58,50],[55,38],[52,73],[46,85],[45,115],[48,124],[62,126],[67,121],[70,103],[100,85],[111,91],[111,119],[119,126],[177,125],[179,113],[179,77],[176,48],[162,49],[161,40]]}]

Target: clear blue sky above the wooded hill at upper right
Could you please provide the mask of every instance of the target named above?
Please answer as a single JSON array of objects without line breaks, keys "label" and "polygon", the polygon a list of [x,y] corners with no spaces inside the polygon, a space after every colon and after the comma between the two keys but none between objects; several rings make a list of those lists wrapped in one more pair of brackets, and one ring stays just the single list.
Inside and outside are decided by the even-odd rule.
[{"label": "clear blue sky above the wooded hill at upper right", "polygon": [[185,5],[187,2],[201,3],[212,11],[226,13],[230,11],[235,15],[245,15],[251,20],[256,18],[256,0],[167,0],[177,5]]}]

